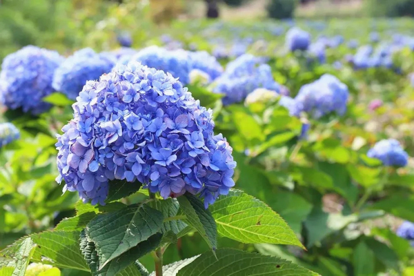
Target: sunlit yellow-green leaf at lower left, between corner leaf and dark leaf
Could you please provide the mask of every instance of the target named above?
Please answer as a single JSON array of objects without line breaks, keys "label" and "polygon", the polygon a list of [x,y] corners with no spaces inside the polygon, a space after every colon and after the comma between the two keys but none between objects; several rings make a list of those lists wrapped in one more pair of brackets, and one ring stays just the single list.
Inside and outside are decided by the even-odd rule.
[{"label": "sunlit yellow-green leaf at lower left, between corner leaf and dark leaf", "polygon": [[89,271],[79,250],[79,231],[46,231],[32,234],[37,244],[32,259],[34,262],[51,264],[58,268],[73,268]]}]

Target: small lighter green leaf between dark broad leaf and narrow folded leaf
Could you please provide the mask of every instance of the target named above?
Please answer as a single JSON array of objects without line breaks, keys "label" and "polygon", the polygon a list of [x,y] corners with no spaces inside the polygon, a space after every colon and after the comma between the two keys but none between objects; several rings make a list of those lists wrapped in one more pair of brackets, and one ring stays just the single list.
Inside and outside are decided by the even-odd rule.
[{"label": "small lighter green leaf between dark broad leaf and narrow folded leaf", "polygon": [[161,213],[164,215],[164,224],[162,227],[163,233],[172,232],[177,235],[179,232],[184,230],[187,227],[187,224],[184,223],[181,219],[172,219],[168,220],[170,217],[175,217],[179,210],[179,203],[177,199],[164,199],[157,201],[161,210]]}]

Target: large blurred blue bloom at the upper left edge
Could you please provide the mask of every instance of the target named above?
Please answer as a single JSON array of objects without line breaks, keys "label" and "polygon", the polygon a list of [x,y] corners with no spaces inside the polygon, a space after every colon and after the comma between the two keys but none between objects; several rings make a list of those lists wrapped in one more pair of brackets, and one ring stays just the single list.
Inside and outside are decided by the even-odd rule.
[{"label": "large blurred blue bloom at the upper left edge", "polygon": [[57,52],[26,46],[3,59],[0,72],[0,101],[10,109],[39,114],[50,108],[42,101],[55,90],[53,74],[63,61]]}]

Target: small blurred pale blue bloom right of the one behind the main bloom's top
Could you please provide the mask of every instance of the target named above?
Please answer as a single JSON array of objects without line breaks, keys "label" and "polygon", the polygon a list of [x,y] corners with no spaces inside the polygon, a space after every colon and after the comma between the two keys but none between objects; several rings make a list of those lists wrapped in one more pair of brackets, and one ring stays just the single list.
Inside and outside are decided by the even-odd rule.
[{"label": "small blurred pale blue bloom right of the one behind the main bloom's top", "polygon": [[201,70],[206,72],[213,81],[223,73],[223,67],[215,57],[208,54],[206,51],[189,52],[191,59],[191,69]]}]

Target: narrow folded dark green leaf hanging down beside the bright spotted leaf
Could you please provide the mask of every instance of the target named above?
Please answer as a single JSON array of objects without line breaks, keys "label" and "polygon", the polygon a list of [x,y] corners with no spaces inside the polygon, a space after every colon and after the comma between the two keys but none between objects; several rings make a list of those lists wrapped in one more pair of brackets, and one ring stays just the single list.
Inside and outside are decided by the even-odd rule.
[{"label": "narrow folded dark green leaf hanging down beside the bright spotted leaf", "polygon": [[193,226],[208,246],[215,250],[217,248],[217,226],[210,210],[204,208],[204,204],[197,197],[188,193],[178,197],[178,202],[180,209],[186,215],[184,221]]}]

